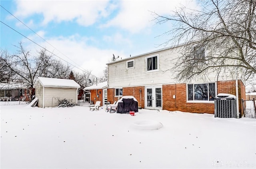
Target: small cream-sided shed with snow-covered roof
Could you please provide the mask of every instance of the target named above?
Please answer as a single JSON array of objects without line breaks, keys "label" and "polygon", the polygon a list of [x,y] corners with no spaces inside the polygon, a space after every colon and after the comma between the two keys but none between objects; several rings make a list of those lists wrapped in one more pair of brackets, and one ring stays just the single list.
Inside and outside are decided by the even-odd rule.
[{"label": "small cream-sided shed with snow-covered roof", "polygon": [[38,77],[34,88],[38,107],[56,107],[62,99],[78,103],[77,95],[80,85],[74,80]]}]

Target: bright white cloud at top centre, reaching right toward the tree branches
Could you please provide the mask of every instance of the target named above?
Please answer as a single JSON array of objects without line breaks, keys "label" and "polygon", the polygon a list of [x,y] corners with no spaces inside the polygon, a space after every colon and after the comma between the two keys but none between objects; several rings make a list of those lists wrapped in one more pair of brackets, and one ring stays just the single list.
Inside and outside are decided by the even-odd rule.
[{"label": "bright white cloud at top centre, reaching right toward the tree branches", "polygon": [[[120,1],[118,15],[103,24],[102,27],[115,26],[128,30],[132,33],[138,33],[154,24],[151,12],[160,15],[170,14],[177,6],[183,4],[188,7],[194,6],[194,2],[188,3],[188,0],[124,0]],[[151,12],[150,12],[151,11]]]}]

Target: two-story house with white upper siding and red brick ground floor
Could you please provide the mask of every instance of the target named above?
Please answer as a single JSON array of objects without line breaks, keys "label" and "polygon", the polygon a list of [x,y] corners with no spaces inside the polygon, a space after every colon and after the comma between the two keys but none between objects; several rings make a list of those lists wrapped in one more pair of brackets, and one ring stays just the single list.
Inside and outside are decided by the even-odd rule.
[{"label": "two-story house with white upper siding and red brick ground floor", "polygon": [[[164,48],[108,63],[108,101],[133,95],[145,109],[214,113],[214,97],[228,93],[236,95],[241,115],[241,99],[245,99],[242,78],[212,73],[188,83],[178,82],[175,64],[181,48]],[[204,51],[200,54],[204,57]]]}]

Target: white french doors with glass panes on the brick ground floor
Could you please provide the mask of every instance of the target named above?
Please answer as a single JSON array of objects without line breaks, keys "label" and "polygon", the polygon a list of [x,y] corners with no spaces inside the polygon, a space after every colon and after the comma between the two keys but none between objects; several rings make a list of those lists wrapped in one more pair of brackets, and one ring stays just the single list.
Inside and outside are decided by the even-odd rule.
[{"label": "white french doors with glass panes on the brick ground floor", "polygon": [[146,109],[162,109],[162,87],[146,87]]}]

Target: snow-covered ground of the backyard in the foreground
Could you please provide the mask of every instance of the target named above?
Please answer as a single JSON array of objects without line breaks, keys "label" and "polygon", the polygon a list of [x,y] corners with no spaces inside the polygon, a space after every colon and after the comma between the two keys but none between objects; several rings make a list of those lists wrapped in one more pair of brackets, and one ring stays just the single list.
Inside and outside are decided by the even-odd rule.
[{"label": "snow-covered ground of the backyard in the foreground", "polygon": [[256,119],[0,103],[1,169],[256,167]]}]

